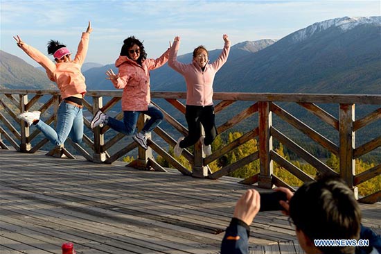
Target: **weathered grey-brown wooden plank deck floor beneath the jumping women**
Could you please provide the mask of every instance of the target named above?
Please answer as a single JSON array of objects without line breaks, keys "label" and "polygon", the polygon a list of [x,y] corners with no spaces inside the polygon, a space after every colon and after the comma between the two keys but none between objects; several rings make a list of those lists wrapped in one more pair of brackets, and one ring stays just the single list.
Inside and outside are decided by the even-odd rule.
[{"label": "weathered grey-brown wooden plank deck floor beneath the jumping women", "polygon": [[[43,152],[0,149],[1,253],[219,253],[233,207],[247,188],[237,179],[197,179],[94,164]],[[265,189],[258,189],[267,192]],[[381,204],[361,205],[381,232]],[[250,253],[303,253],[281,212],[260,212]]]}]

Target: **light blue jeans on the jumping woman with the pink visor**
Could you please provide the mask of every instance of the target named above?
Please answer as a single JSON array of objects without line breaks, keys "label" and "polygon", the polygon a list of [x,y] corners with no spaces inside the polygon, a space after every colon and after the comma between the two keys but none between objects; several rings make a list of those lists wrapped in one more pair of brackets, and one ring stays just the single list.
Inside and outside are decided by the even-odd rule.
[{"label": "light blue jeans on the jumping woman with the pink visor", "polygon": [[82,108],[62,102],[57,112],[56,130],[41,120],[36,124],[36,128],[56,146],[64,144],[69,135],[73,142],[80,144],[83,137]]}]

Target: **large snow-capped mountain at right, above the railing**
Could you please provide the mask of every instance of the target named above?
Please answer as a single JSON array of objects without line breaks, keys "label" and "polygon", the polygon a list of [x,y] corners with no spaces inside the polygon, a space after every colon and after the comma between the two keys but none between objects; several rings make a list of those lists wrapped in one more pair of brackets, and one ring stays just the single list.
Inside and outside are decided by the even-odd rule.
[{"label": "large snow-capped mountain at right, above the railing", "polygon": [[227,62],[218,92],[380,94],[381,17],[343,17],[308,26]]}]

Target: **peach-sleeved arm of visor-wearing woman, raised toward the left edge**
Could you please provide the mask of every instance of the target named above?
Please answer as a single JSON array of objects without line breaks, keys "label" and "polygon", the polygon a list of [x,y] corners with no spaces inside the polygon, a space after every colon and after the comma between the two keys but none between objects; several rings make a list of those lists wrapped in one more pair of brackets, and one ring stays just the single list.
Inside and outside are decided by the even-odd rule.
[{"label": "peach-sleeved arm of visor-wearing woman, raised toward the left edge", "polygon": [[44,67],[48,77],[51,78],[53,71],[55,71],[55,63],[43,53],[33,48],[33,46],[26,44],[23,40],[21,40],[19,35],[13,36],[13,38],[16,40],[17,46],[19,46],[20,49],[22,49],[28,56],[30,56],[30,58]]}]

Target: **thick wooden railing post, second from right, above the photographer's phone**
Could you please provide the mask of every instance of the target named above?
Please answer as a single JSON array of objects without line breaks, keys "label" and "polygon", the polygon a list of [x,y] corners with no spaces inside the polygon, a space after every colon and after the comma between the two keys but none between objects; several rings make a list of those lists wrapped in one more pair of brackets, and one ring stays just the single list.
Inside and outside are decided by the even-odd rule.
[{"label": "thick wooden railing post, second from right, above the photographer's phone", "polygon": [[270,127],[272,126],[272,112],[270,112],[268,101],[258,101],[258,128],[259,128],[259,164],[258,187],[272,189],[272,137]]}]

